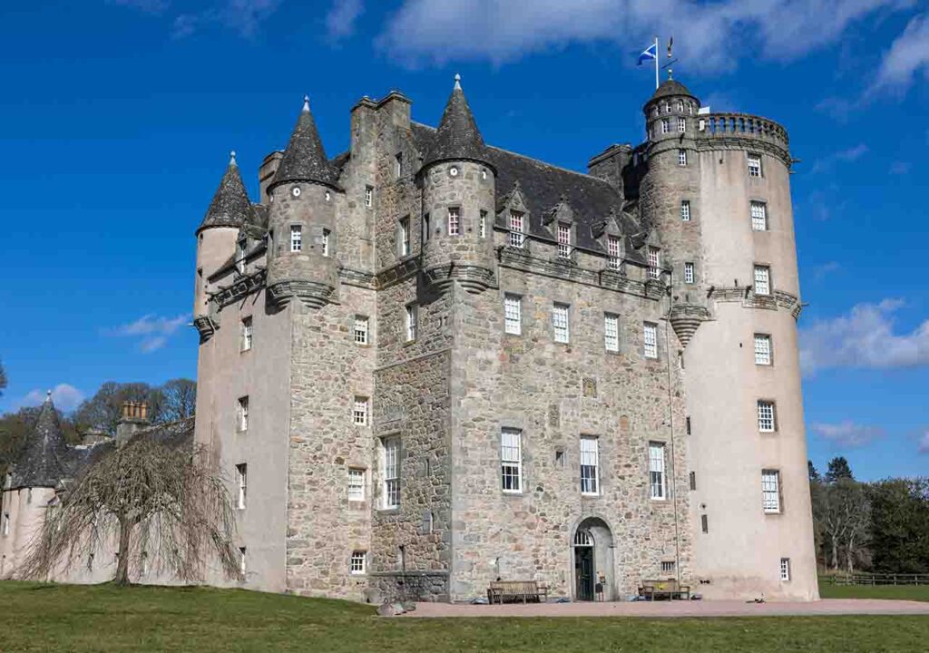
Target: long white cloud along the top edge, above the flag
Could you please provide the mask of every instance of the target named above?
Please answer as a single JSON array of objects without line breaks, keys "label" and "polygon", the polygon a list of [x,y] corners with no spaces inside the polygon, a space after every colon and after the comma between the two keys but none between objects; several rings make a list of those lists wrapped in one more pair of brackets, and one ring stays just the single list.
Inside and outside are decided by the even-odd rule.
[{"label": "long white cloud along the top edge, above the flag", "polygon": [[[654,33],[678,35],[691,70],[733,68],[736,53],[796,59],[838,40],[855,22],[914,0],[404,0],[378,43],[408,64],[502,63],[571,44],[609,42],[629,61]],[[663,48],[663,44],[662,44]]]}]

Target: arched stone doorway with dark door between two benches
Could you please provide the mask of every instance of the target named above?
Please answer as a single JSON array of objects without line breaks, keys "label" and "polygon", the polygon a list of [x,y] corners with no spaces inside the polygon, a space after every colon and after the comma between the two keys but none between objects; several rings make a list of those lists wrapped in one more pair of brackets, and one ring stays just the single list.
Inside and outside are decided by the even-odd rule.
[{"label": "arched stone doorway with dark door between two benches", "polygon": [[571,563],[575,601],[613,599],[613,535],[603,519],[587,517],[578,524],[571,538]]}]

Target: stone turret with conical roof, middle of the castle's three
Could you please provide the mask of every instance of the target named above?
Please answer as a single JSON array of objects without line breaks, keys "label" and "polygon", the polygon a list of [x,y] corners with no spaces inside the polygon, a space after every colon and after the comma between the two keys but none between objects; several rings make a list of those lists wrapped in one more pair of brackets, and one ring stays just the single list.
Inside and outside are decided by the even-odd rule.
[{"label": "stone turret with conical roof, middle of the castle's three", "polygon": [[294,296],[317,308],[335,298],[338,190],[338,171],[326,158],[309,98],[304,98],[287,150],[268,185],[268,296],[278,307]]}]

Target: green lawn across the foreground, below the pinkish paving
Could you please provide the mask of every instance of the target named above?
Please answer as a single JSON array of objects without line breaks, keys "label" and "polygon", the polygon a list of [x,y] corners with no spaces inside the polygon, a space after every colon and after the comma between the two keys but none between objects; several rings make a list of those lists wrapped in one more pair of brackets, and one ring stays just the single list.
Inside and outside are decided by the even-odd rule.
[{"label": "green lawn across the foreground, below the pinkish paving", "polygon": [[0,583],[22,651],[922,651],[925,617],[405,620],[341,601],[203,588]]}]

